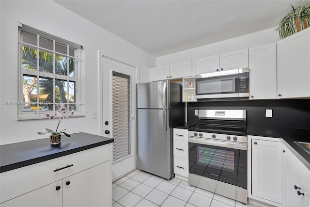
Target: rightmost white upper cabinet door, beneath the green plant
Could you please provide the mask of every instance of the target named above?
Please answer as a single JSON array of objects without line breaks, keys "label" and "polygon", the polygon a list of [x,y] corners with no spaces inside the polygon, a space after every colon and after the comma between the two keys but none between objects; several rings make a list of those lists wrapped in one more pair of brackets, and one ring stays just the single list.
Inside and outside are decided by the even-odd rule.
[{"label": "rightmost white upper cabinet door, beneath the green plant", "polygon": [[310,28],[277,43],[278,98],[310,97]]}]

